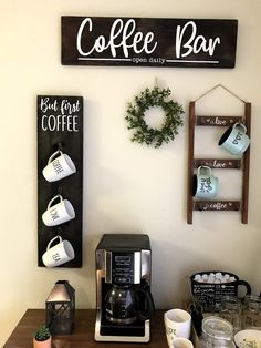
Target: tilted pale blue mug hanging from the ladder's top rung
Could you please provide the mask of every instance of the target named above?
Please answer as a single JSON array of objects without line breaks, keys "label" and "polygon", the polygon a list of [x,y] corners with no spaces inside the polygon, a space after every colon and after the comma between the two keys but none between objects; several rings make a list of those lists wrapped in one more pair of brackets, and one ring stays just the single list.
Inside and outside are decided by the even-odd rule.
[{"label": "tilted pale blue mug hanging from the ladder's top rung", "polygon": [[234,123],[222,134],[218,144],[232,155],[241,156],[250,144],[246,125]]}]

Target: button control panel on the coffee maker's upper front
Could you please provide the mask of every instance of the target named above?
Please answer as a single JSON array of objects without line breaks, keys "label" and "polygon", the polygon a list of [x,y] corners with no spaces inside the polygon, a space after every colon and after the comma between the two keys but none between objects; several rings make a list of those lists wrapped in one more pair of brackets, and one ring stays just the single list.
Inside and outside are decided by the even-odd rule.
[{"label": "button control panel on the coffee maker's upper front", "polygon": [[140,252],[106,252],[105,282],[111,284],[140,283]]}]

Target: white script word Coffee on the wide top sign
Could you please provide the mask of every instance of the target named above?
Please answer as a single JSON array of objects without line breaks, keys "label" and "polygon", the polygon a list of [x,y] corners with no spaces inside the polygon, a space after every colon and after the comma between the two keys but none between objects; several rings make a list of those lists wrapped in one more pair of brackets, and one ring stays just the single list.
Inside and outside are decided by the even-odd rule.
[{"label": "white script word Coffee on the wide top sign", "polygon": [[[88,57],[94,51],[102,53],[109,49],[112,57],[117,57],[117,49],[122,49],[124,57],[128,58],[129,49],[133,49],[136,54],[145,52],[146,54],[153,53],[157,47],[157,42],[154,42],[154,33],[152,31],[144,34],[140,31],[136,31],[136,22],[134,19],[129,19],[125,24],[122,19],[116,19],[109,31],[109,40],[106,41],[104,35],[100,35],[92,43],[90,51],[85,52],[82,48],[83,33],[93,31],[93,22],[91,18],[85,18],[81,23],[77,32],[77,51],[82,57]],[[119,41],[121,39],[121,41]],[[129,43],[128,43],[129,42]]]}]

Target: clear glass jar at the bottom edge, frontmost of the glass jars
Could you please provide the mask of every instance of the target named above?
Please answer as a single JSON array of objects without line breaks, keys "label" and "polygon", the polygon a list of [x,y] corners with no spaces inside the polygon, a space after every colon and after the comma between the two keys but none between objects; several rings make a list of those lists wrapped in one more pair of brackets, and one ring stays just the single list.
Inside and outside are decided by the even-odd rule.
[{"label": "clear glass jar at the bottom edge, frontmost of the glass jars", "polygon": [[202,321],[201,348],[230,347],[233,340],[233,326],[219,317],[206,317]]}]

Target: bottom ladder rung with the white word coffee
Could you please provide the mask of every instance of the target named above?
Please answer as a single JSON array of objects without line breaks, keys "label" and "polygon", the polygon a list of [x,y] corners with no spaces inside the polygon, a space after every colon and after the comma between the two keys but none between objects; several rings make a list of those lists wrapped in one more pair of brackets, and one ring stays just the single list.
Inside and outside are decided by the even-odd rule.
[{"label": "bottom ladder rung with the white word coffee", "polygon": [[240,211],[239,201],[194,201],[194,211],[227,212]]}]

